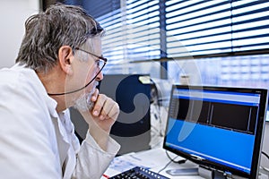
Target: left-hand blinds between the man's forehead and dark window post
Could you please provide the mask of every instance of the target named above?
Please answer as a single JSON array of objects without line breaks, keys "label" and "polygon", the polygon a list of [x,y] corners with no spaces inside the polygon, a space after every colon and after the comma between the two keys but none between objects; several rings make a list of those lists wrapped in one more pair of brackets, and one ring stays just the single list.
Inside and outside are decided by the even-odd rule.
[{"label": "left-hand blinds between the man's forehead and dark window post", "polygon": [[106,29],[102,48],[109,63],[105,70],[130,72],[134,65],[129,62],[160,58],[158,0],[126,0],[121,9],[97,20]]}]

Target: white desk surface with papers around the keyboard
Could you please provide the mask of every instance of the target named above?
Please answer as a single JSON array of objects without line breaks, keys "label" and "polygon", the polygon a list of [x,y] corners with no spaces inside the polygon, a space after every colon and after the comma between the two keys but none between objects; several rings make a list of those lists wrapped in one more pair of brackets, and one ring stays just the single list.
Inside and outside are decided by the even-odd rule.
[{"label": "white desk surface with papers around the keyboard", "polygon": [[[169,156],[171,158],[175,158],[176,155],[169,152]],[[175,160],[179,160],[183,158],[176,158]],[[153,172],[158,173],[164,166],[169,163],[169,158],[166,155],[165,149],[156,148],[156,149],[149,149],[139,152],[132,152],[126,155],[117,157],[113,160],[111,165],[108,167],[108,170],[105,172],[107,176],[117,175],[127,169],[130,169],[134,166],[143,166],[145,168],[150,168]],[[189,160],[185,164],[176,164],[171,162],[169,166],[161,171],[161,175],[165,175],[169,178],[179,178],[179,179],[201,179],[203,177],[199,175],[182,175],[182,176],[172,176],[166,173],[168,169],[175,169],[175,168],[182,168],[182,167],[195,167],[196,165]],[[106,177],[102,177],[105,179]]]}]

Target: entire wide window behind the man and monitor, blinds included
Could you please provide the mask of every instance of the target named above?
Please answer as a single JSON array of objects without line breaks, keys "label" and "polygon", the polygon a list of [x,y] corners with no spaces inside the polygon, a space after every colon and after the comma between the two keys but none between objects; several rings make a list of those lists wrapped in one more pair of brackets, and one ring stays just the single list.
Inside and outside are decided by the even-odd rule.
[{"label": "entire wide window behind the man and monitor, blinds included", "polygon": [[175,83],[189,76],[194,84],[269,86],[267,0],[107,1],[105,13],[95,11],[100,2],[90,10],[78,1],[107,31],[105,73],[160,78],[162,62]]}]

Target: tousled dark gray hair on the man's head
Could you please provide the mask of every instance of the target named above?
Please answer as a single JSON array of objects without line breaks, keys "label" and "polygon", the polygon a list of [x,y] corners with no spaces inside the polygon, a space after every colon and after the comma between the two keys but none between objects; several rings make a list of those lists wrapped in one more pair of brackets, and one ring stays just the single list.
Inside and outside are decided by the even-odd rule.
[{"label": "tousled dark gray hair on the man's head", "polygon": [[38,72],[48,72],[57,64],[60,47],[70,46],[74,52],[75,47],[102,33],[99,22],[81,7],[51,5],[46,12],[32,15],[25,21],[25,35],[16,63]]}]

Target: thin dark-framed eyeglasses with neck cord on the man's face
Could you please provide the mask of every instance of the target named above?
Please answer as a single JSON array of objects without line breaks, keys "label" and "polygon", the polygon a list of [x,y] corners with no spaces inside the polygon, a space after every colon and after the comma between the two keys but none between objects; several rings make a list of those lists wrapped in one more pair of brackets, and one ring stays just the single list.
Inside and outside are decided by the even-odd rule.
[{"label": "thin dark-framed eyeglasses with neck cord on the man's face", "polygon": [[63,93],[48,93],[48,95],[50,95],[50,96],[59,96],[59,95],[65,95],[65,94],[74,93],[74,92],[77,92],[79,90],[85,89],[86,87],[88,87],[91,84],[92,81],[94,81],[97,78],[97,76],[100,74],[100,72],[103,70],[103,68],[105,67],[105,65],[108,62],[108,59],[103,57],[103,56],[92,54],[91,52],[88,52],[88,51],[86,51],[86,50],[84,50],[82,48],[79,48],[79,47],[76,47],[74,49],[80,50],[82,52],[85,52],[87,54],[90,54],[90,55],[93,55],[93,56],[97,57],[98,60],[96,60],[95,63],[97,64],[97,67],[98,67],[99,71],[95,74],[95,76],[91,79],[90,82],[88,82],[85,86],[83,86],[82,88],[80,88],[78,90],[72,90],[72,91],[63,92]]}]

